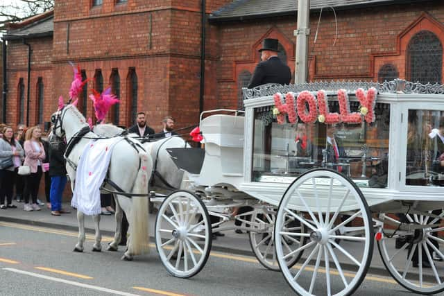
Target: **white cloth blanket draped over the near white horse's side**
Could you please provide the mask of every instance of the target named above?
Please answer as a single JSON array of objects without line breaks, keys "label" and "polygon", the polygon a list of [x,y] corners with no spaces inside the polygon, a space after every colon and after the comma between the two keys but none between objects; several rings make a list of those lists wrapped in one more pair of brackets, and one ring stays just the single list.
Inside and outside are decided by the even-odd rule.
[{"label": "white cloth blanket draped over the near white horse's side", "polygon": [[123,137],[92,140],[83,150],[76,171],[71,206],[83,214],[101,214],[100,187],[108,172],[112,148]]}]

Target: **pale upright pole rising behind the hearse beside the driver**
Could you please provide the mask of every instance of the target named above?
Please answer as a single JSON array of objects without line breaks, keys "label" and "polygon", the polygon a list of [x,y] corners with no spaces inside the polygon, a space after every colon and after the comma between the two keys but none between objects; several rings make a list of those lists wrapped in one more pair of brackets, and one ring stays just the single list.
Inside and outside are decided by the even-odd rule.
[{"label": "pale upright pole rising behind the hearse beside the driver", "polygon": [[307,82],[308,73],[308,42],[309,42],[310,0],[298,1],[298,28],[296,36],[296,74],[295,83]]}]

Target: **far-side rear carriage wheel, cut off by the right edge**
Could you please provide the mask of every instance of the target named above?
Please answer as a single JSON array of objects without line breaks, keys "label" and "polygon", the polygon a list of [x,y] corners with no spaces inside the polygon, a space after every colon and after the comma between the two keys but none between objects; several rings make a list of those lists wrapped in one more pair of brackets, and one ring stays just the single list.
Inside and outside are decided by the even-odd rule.
[{"label": "far-side rear carriage wheel, cut off by the right edge", "polygon": [[[396,227],[384,229],[377,242],[382,262],[393,279],[419,294],[436,294],[444,290],[444,240],[438,237],[438,232],[444,231],[444,227],[440,227],[444,211],[429,213],[430,216],[407,214],[402,217],[409,224],[428,227],[418,227],[410,232],[397,231]],[[384,220],[400,225],[400,218],[396,216],[384,215]]]}]

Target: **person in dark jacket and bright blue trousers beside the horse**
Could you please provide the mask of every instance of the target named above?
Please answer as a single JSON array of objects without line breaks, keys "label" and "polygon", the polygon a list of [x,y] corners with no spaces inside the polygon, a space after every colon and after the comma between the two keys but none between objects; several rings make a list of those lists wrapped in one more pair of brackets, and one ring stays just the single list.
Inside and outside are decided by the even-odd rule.
[{"label": "person in dark jacket and bright blue trousers beside the horse", "polygon": [[51,215],[53,216],[70,212],[62,209],[62,194],[67,184],[66,162],[65,157],[63,157],[66,148],[65,141],[51,133],[49,137],[49,176],[51,177],[49,199],[51,200]]}]

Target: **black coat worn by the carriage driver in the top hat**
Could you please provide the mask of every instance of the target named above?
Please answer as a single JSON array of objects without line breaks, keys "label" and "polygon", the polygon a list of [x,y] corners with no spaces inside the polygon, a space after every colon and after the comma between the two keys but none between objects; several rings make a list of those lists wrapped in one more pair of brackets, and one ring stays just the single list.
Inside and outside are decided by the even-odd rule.
[{"label": "black coat worn by the carriage driver in the top hat", "polygon": [[265,85],[266,83],[278,83],[288,85],[291,80],[290,68],[280,58],[272,57],[257,64],[255,73],[250,80],[248,88]]}]

